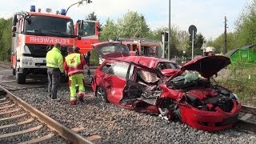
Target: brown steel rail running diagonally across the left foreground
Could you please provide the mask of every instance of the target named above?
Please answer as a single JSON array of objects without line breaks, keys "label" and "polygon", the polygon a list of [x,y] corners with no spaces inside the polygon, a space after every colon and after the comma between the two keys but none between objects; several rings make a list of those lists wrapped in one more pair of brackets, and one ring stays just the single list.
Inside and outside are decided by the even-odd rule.
[{"label": "brown steel rail running diagonally across the left foreground", "polygon": [[29,104],[24,102],[21,98],[16,97],[9,90],[6,90],[4,87],[0,86],[0,88],[2,88],[2,90],[6,92],[6,97],[12,99],[19,106],[22,106],[26,111],[30,112],[32,116],[38,118],[38,121],[46,123],[47,127],[49,127],[51,130],[56,131],[63,138],[66,138],[70,142],[73,142],[76,144],[77,143],[78,144],[93,143],[87,140],[86,138],[83,138],[79,134],[76,134],[73,130],[68,129],[66,126],[63,126],[61,123],[56,122],[53,118],[50,118],[46,114],[43,114],[40,110],[37,110],[33,106],[30,106]]}]

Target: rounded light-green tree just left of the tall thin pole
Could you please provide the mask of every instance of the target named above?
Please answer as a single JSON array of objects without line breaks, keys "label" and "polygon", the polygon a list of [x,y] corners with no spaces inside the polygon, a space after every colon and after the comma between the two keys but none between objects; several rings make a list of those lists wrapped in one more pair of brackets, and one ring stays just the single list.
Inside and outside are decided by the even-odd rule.
[{"label": "rounded light-green tree just left of the tall thin pole", "polygon": [[118,19],[118,37],[146,38],[150,28],[142,14],[129,11],[123,18]]}]

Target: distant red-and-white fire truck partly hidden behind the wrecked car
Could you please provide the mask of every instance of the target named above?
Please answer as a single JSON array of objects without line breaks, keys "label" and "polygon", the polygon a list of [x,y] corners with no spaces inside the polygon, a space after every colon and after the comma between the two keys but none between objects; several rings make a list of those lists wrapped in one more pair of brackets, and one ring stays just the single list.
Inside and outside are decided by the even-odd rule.
[{"label": "distant red-and-white fire truck partly hidden behind the wrecked car", "polygon": [[131,55],[145,55],[150,57],[162,57],[162,48],[154,39],[146,38],[118,38],[118,41],[122,41],[130,49]]}]

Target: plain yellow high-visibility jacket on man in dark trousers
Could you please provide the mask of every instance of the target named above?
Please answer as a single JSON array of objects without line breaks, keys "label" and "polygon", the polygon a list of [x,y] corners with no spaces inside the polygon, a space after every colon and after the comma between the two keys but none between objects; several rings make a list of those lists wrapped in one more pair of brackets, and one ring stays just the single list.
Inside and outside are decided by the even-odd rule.
[{"label": "plain yellow high-visibility jacket on man in dark trousers", "polygon": [[58,50],[58,48],[54,47],[52,50],[47,52],[46,66],[59,68],[62,73],[64,72],[62,52]]}]

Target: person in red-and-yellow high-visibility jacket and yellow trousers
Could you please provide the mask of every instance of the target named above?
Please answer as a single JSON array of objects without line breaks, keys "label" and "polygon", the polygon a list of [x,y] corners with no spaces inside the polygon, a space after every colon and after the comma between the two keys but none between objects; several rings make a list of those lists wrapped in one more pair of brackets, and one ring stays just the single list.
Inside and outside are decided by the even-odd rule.
[{"label": "person in red-and-yellow high-visibility jacket and yellow trousers", "polygon": [[[70,86],[70,104],[77,104],[78,99],[83,102],[85,95],[85,79],[83,76],[84,67],[88,70],[87,74],[90,75],[89,67],[86,65],[82,54],[74,52],[73,47],[68,47],[67,52],[69,53],[64,62],[65,73],[69,77],[69,86]],[[78,84],[78,94],[76,93],[76,84]]]}]

